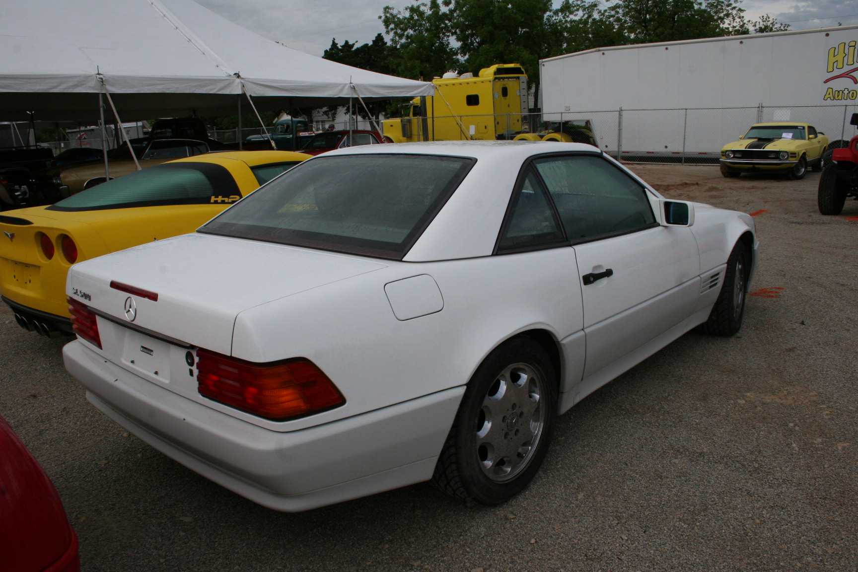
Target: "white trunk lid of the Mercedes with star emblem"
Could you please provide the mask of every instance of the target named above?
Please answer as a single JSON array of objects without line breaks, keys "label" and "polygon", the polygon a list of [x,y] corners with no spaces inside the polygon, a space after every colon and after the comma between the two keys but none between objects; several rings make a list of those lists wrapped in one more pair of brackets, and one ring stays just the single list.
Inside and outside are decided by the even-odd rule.
[{"label": "white trunk lid of the Mercedes with star emblem", "polygon": [[[239,312],[384,266],[282,244],[186,234],[76,264],[67,290],[116,322],[228,355]],[[112,288],[112,281],[158,299]],[[126,316],[128,298],[136,306],[133,316]]]}]

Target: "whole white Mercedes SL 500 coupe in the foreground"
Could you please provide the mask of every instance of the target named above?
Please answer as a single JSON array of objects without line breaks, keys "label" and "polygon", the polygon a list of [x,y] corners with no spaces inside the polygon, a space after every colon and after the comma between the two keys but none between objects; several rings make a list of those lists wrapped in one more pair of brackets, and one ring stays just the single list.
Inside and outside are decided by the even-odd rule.
[{"label": "whole white Mercedes SL 500 coupe in the foreground", "polygon": [[73,266],[65,364],[125,429],[271,509],[426,480],[502,503],[557,415],[692,328],[739,330],[754,232],[588,145],[348,148]]}]

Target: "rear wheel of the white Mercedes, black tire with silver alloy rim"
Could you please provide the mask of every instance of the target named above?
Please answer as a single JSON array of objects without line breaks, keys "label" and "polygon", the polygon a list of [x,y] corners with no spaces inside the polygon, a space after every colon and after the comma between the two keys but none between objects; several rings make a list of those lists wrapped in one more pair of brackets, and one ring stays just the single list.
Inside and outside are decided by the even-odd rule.
[{"label": "rear wheel of the white Mercedes, black tire with silver alloy rim", "polygon": [[525,336],[505,341],[468,382],[432,485],[472,503],[515,497],[545,459],[556,412],[557,375],[545,349]]}]

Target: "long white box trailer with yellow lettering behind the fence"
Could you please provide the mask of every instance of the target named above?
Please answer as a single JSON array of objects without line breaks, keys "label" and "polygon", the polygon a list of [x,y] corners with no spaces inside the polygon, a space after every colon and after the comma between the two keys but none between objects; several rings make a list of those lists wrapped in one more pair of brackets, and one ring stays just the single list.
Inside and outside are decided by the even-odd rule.
[{"label": "long white box trailer with yellow lettering behind the fence", "polygon": [[848,141],[856,44],[858,25],[550,57],[540,62],[542,115],[591,120],[600,147],[631,160],[716,160],[722,145],[764,121],[812,123],[832,142]]}]

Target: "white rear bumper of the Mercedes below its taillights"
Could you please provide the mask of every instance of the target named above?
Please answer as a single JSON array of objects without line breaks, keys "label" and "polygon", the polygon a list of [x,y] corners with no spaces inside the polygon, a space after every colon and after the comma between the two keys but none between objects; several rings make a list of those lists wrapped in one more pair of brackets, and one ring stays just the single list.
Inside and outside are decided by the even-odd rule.
[{"label": "white rear bumper of the Mercedes below its taillights", "polygon": [[432,477],[464,387],[309,429],[263,429],[106,362],[73,341],[66,369],[101,412],[160,452],[270,509],[315,509]]}]

